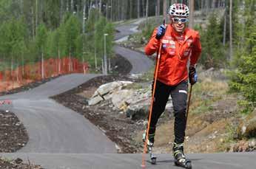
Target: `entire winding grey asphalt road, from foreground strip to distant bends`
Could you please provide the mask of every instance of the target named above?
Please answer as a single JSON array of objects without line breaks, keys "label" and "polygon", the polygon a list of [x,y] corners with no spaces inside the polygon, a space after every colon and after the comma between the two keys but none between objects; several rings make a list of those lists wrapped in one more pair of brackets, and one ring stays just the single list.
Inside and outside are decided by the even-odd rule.
[{"label": "entire winding grey asphalt road, from foreground strip to distant bends", "polygon": [[[116,39],[135,32],[138,23],[117,27]],[[146,72],[152,62],[144,55],[121,46],[115,52],[132,63],[131,73]],[[28,92],[0,97],[13,100],[11,111],[24,123],[30,135],[28,144],[18,153],[0,154],[7,158],[30,159],[44,168],[130,169],[141,168],[141,154],[115,154],[115,144],[81,115],[48,97],[65,92],[97,75],[66,75]],[[1,107],[0,107],[1,108]],[[189,154],[192,167],[198,169],[255,168],[256,153]],[[159,154],[158,165],[146,162],[146,168],[178,168],[171,154]]]}]

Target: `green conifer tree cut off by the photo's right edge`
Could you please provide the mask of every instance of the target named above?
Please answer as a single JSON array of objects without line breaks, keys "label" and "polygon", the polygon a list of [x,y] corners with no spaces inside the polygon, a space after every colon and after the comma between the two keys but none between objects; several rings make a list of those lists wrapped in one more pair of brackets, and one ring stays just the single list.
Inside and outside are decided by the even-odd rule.
[{"label": "green conifer tree cut off by the photo's right edge", "polygon": [[239,49],[235,51],[233,70],[230,72],[229,86],[232,92],[241,92],[246,100],[240,103],[245,107],[243,112],[252,111],[256,101],[256,26],[254,24],[254,2],[245,1],[243,14],[244,30],[239,31],[241,39],[238,40]]}]

